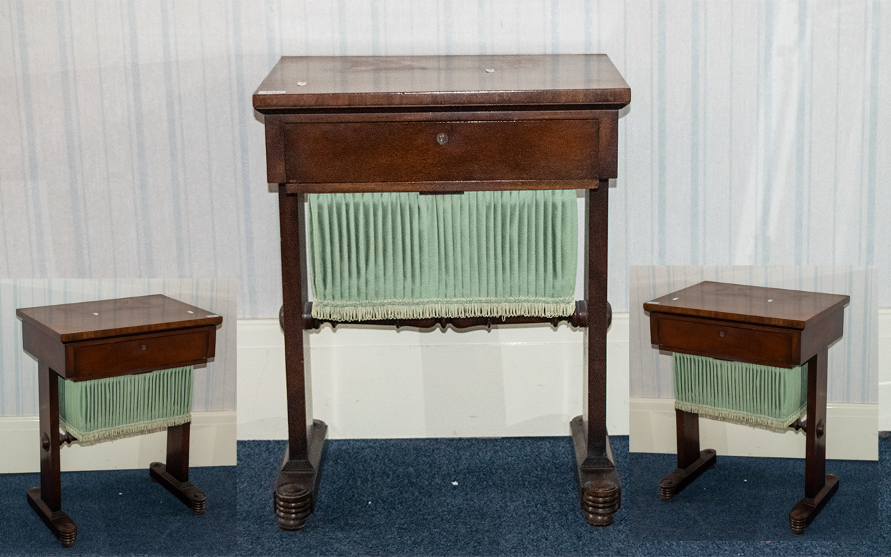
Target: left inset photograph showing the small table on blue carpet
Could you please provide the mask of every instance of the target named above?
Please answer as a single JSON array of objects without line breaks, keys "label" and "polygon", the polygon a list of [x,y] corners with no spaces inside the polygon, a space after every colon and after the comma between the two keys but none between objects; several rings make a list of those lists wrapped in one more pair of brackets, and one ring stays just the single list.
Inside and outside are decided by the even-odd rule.
[{"label": "left inset photograph showing the small table on blue carpet", "polygon": [[0,281],[4,409],[19,409],[5,420],[20,426],[0,432],[4,545],[53,552],[52,534],[96,554],[234,551],[234,291]]}]

